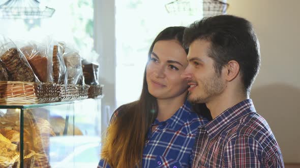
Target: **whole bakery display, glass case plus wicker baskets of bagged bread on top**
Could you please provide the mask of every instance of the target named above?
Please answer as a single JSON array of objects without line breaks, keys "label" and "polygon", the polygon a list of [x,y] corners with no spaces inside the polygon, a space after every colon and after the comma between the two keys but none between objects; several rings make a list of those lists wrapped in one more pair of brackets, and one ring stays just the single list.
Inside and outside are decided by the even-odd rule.
[{"label": "whole bakery display, glass case plus wicker baskets of bagged bread on top", "polygon": [[0,35],[0,168],[97,167],[98,76],[64,41]]}]

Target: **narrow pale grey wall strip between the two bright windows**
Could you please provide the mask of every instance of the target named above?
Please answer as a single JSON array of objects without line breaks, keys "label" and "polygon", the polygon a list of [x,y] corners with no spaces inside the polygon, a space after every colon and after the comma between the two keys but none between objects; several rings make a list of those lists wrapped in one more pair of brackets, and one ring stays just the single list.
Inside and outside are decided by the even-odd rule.
[{"label": "narrow pale grey wall strip between the two bright windows", "polygon": [[108,118],[115,108],[115,3],[94,0],[94,48],[100,54],[100,78],[104,85],[101,99],[101,130],[106,130]]}]

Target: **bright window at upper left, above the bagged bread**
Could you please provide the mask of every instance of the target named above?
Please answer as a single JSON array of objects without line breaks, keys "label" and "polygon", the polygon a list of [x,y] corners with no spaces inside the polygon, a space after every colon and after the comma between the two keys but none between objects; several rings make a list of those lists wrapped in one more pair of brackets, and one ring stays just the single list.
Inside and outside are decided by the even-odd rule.
[{"label": "bright window at upper left, above the bagged bread", "polygon": [[[1,1],[0,3],[5,1]],[[26,2],[26,1],[24,1]],[[1,19],[0,34],[12,40],[41,41],[47,35],[74,46],[80,52],[94,47],[93,1],[49,0],[46,6],[54,8],[51,18],[44,19]],[[84,14],[84,15],[83,15]]]}]

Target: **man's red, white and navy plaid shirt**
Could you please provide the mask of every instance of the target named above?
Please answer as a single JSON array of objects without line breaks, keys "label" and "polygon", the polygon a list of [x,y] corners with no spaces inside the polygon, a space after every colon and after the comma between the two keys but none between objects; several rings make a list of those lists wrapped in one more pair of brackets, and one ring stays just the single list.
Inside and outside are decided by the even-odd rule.
[{"label": "man's red, white and navy plaid shirt", "polygon": [[200,126],[193,155],[193,167],[284,167],[278,143],[251,99]]}]

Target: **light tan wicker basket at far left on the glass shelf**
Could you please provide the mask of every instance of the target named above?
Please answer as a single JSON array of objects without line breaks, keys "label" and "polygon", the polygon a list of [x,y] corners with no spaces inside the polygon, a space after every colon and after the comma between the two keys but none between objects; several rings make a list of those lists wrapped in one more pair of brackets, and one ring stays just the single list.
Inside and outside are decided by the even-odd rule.
[{"label": "light tan wicker basket at far left on the glass shelf", "polygon": [[0,105],[38,104],[40,92],[35,82],[0,81]]}]

